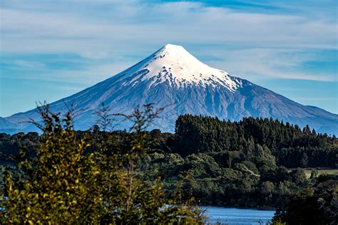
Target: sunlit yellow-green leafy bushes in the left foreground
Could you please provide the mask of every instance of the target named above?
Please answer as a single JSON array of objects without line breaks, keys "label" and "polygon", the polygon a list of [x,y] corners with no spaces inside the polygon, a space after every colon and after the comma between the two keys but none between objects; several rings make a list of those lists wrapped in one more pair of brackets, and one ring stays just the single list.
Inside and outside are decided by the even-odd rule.
[{"label": "sunlit yellow-green leafy bushes in the left foreground", "polygon": [[[123,150],[81,137],[73,113],[60,116],[39,108],[43,124],[36,157],[4,172],[1,224],[200,224],[202,212],[175,205],[179,194],[165,195],[158,180],[143,181],[136,161],[148,152],[143,130],[156,116],[152,105],[125,115],[133,122]],[[95,144],[96,150],[91,150]]]}]

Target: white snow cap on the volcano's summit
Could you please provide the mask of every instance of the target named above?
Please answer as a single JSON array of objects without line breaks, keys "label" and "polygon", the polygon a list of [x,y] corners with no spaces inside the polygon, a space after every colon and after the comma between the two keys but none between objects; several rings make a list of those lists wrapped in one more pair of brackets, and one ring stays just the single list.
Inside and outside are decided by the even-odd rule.
[{"label": "white snow cap on the volcano's summit", "polygon": [[211,68],[191,55],[183,46],[166,44],[148,58],[123,71],[131,79],[125,85],[150,80],[153,85],[168,82],[176,88],[186,85],[212,85],[235,91],[240,87],[240,79],[229,73]]}]

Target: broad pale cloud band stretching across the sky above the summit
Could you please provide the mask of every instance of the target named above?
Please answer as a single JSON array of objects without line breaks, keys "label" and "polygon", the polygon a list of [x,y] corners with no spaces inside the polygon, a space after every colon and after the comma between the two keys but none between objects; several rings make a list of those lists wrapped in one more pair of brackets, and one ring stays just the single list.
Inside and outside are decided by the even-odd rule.
[{"label": "broad pale cloud band stretching across the sky above the summit", "polygon": [[29,9],[4,6],[1,10],[4,52],[81,54],[91,50],[101,53],[126,48],[128,43],[140,48],[140,45],[158,45],[167,40],[232,43],[234,46],[337,48],[335,23],[303,16],[238,12],[192,2],[143,4],[134,1],[122,6],[112,3],[111,8],[107,3],[108,9],[101,14],[94,7],[99,5],[93,3],[88,5],[92,10],[76,2],[69,6],[53,5],[53,11],[48,11],[50,4],[41,10],[41,4],[43,2],[39,3],[38,10],[31,9],[32,6]]}]

